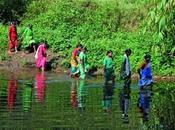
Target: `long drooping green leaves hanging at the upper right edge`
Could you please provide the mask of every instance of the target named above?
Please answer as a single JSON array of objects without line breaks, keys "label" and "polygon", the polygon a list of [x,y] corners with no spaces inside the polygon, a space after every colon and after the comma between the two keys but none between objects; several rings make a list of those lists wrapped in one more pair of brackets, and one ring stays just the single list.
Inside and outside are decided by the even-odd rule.
[{"label": "long drooping green leaves hanging at the upper right edge", "polygon": [[157,35],[162,55],[160,64],[166,68],[175,67],[175,1],[155,0],[154,4],[148,14],[147,28]]}]

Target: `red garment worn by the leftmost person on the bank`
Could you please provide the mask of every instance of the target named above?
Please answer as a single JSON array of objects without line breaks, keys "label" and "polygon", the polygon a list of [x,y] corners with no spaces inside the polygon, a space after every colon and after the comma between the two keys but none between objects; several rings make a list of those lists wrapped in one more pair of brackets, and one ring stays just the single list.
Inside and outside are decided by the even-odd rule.
[{"label": "red garment worn by the leftmost person on the bank", "polygon": [[16,26],[11,25],[9,28],[9,49],[13,49],[15,46],[18,45],[18,34]]}]

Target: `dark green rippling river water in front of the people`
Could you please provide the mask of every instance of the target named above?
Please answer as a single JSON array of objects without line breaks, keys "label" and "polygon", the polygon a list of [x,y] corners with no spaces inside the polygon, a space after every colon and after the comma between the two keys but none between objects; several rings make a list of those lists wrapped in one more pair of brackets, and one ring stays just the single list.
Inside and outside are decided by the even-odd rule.
[{"label": "dark green rippling river water in front of the people", "polygon": [[122,83],[116,83],[109,99],[112,108],[105,111],[103,78],[79,81],[51,72],[1,73],[0,129],[138,130],[142,118],[137,84],[131,88],[129,123],[119,105],[121,88]]}]

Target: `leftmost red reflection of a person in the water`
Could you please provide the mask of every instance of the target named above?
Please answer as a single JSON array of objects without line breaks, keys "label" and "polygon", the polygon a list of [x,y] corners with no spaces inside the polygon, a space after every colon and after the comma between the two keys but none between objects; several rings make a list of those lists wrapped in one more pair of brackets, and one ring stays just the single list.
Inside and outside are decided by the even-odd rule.
[{"label": "leftmost red reflection of a person in the water", "polygon": [[9,110],[12,110],[15,105],[17,88],[18,88],[18,81],[14,77],[12,77],[12,79],[8,82],[8,108]]}]

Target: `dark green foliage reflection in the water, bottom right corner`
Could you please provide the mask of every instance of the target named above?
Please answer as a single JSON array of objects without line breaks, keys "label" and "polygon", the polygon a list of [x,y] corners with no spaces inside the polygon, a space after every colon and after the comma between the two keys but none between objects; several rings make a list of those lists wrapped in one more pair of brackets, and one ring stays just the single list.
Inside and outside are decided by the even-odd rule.
[{"label": "dark green foliage reflection in the water, bottom right corner", "polygon": [[153,105],[151,107],[151,116],[148,123],[148,129],[164,130],[175,129],[175,98],[173,83],[163,83],[155,86]]}]

